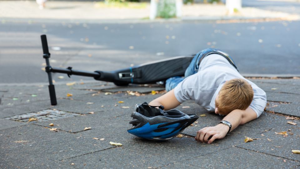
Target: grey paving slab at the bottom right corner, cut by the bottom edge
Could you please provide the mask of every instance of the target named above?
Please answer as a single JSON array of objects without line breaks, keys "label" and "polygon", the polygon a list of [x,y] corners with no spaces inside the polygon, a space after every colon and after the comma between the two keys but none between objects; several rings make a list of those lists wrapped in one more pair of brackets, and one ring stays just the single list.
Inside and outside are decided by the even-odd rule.
[{"label": "grey paving slab at the bottom right corner, cut by the bottom edge", "polygon": [[[285,162],[283,161],[285,160]],[[259,164],[259,166],[257,166]],[[231,147],[199,156],[180,163],[174,163],[162,168],[188,166],[189,168],[295,168],[299,161],[288,160],[261,152]]]}]

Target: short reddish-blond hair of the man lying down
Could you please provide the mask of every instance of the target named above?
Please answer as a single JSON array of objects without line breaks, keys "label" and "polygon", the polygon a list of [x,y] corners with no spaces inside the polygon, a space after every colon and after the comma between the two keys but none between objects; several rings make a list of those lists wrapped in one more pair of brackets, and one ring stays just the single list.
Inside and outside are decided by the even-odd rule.
[{"label": "short reddish-blond hair of the man lying down", "polygon": [[246,110],[253,99],[253,89],[244,79],[231,79],[225,82],[219,91],[215,106],[221,115],[227,115],[232,110]]}]

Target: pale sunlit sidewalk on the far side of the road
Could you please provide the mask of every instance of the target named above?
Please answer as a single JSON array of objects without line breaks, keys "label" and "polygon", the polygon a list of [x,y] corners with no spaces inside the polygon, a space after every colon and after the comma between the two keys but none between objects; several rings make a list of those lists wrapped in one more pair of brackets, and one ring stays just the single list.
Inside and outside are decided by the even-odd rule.
[{"label": "pale sunlit sidewalk on the far side of the road", "polygon": [[[46,8],[38,9],[35,1],[0,1],[0,19],[28,21],[51,19],[61,20],[89,20],[89,22],[148,22],[150,4],[144,8],[108,8],[97,5],[96,2],[69,2],[49,1]],[[184,5],[182,18],[173,18],[169,21],[180,20],[222,20],[222,19],[276,19],[299,20],[296,14],[267,11],[257,8],[242,8],[234,14],[228,14],[225,5],[194,4]],[[160,19],[158,19],[161,21]]]}]

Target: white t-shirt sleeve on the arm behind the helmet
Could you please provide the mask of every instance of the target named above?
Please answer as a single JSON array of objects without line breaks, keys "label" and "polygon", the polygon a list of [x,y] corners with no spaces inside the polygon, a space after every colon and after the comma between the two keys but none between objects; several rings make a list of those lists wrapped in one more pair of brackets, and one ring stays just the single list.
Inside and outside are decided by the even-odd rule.
[{"label": "white t-shirt sleeve on the arm behind the helmet", "polygon": [[197,74],[193,74],[185,78],[174,88],[175,97],[180,103],[190,99],[195,100],[194,91],[198,88],[197,79]]}]

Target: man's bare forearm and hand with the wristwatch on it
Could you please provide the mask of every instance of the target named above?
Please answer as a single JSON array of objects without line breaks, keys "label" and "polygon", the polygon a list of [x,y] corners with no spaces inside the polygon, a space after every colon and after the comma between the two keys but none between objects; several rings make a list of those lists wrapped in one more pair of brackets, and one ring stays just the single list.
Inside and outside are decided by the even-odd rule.
[{"label": "man's bare forearm and hand with the wristwatch on it", "polygon": [[[248,107],[246,110],[233,110],[227,116],[225,116],[223,120],[229,121],[231,123],[232,131],[235,128],[237,128],[237,126],[245,124],[256,118],[257,115],[255,111]],[[229,127],[224,124],[218,124],[213,127],[204,127],[201,130],[197,131],[197,136],[195,137],[195,140],[200,142],[207,142],[208,144],[210,144],[215,139],[224,138],[228,130]]]}]

